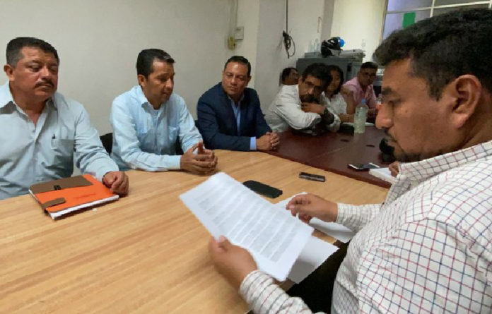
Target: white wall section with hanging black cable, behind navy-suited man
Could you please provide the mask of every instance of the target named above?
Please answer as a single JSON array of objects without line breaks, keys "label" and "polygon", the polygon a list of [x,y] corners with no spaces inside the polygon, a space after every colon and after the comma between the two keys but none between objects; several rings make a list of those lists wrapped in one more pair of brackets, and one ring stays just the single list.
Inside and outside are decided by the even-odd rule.
[{"label": "white wall section with hanging black cable, behind navy-suited man", "polygon": [[[257,8],[257,3],[259,7]],[[285,0],[240,0],[238,25],[247,20],[254,29],[257,23],[257,38],[247,38],[235,54],[243,54],[254,64],[254,75],[250,87],[254,86],[259,95],[262,109],[266,110],[279,90],[279,76],[283,68],[295,66],[295,61],[304,56],[313,40],[320,40],[322,31],[324,0],[290,0],[288,28],[295,42],[295,54],[287,58],[283,48],[282,31],[286,28]],[[257,12],[258,18],[245,18]],[[254,37],[254,32],[251,33]],[[255,60],[254,60],[255,58]]]}]

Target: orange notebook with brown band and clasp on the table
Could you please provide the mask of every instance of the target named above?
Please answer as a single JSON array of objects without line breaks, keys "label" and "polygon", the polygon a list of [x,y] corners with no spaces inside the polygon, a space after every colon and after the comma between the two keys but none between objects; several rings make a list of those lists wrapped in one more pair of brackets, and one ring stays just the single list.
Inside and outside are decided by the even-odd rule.
[{"label": "orange notebook with brown band and clasp on the table", "polygon": [[118,199],[117,194],[90,174],[37,183],[30,186],[29,192],[53,219]]}]

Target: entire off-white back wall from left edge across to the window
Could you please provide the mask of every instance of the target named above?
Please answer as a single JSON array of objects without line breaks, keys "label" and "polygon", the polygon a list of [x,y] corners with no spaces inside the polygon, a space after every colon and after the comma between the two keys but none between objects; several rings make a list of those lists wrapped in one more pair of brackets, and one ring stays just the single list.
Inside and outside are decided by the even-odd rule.
[{"label": "entire off-white back wall from left edge across to the window", "polygon": [[53,44],[61,58],[59,91],[82,102],[100,133],[107,133],[112,99],[136,84],[141,49],[161,48],[175,58],[175,92],[194,116],[200,95],[221,80],[225,60],[242,54],[252,64],[250,87],[265,110],[279,89],[281,70],[295,66],[315,39],[339,35],[348,49],[361,48],[364,40],[369,60],[380,41],[385,0],[290,0],[288,28],[296,47],[291,59],[281,35],[285,0],[239,0],[237,24],[245,27],[245,39],[234,51],[225,42],[230,5],[231,0],[0,0],[0,49],[16,36]]}]

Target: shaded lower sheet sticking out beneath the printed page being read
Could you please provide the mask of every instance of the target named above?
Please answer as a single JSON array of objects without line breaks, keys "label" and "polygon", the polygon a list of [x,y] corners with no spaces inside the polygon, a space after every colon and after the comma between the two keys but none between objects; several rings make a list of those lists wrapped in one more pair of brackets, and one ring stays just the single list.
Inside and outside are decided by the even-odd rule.
[{"label": "shaded lower sheet sticking out beneath the printed page being read", "polygon": [[302,282],[305,277],[314,272],[317,267],[320,267],[336,250],[338,248],[333,244],[311,236],[295,261],[291,273],[288,274],[288,279],[291,279],[296,284]]}]

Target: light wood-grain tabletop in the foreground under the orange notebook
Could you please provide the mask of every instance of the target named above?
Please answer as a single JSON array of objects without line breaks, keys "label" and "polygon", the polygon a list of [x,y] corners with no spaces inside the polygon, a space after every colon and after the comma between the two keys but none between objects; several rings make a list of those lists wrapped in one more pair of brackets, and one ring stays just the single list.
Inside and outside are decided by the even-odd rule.
[{"label": "light wood-grain tabletop in the foreground under the orange notebook", "polygon": [[[262,152],[218,150],[218,170],[345,203],[387,189]],[[300,171],[327,181],[299,179]],[[245,313],[209,260],[210,235],[179,195],[208,176],[128,171],[130,194],[53,221],[30,195],[0,201],[0,313]],[[325,237],[328,241],[332,238]]]}]

